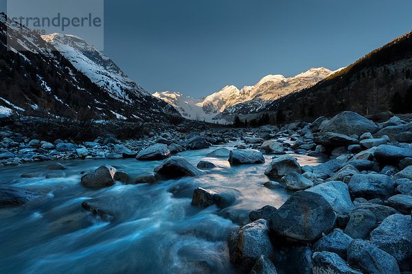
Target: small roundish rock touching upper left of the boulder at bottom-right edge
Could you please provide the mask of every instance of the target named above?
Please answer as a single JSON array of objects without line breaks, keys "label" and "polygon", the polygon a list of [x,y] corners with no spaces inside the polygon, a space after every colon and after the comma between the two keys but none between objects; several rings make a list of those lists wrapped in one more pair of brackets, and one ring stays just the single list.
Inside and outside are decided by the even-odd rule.
[{"label": "small roundish rock touching upper left of the boulder at bottom-right edge", "polygon": [[345,233],[354,239],[366,239],[376,227],[376,217],[368,209],[356,209],[350,213]]}]

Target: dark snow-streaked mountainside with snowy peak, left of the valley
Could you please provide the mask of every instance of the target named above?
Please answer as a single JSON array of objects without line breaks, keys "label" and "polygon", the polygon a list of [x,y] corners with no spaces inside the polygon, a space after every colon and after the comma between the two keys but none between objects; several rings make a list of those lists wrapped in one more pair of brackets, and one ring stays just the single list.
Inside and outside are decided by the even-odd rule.
[{"label": "dark snow-streaked mountainside with snowy peak, left of the valley", "polygon": [[[21,35],[5,14],[1,14],[2,113],[10,109],[24,115],[45,117],[140,121],[180,116],[172,106],[154,98],[127,78],[92,45],[76,39],[62,37],[58,44],[61,54],[52,43],[31,30],[25,29]],[[90,50],[73,47],[74,40]],[[71,53],[67,55],[70,60],[64,56],[67,52],[62,50],[63,46],[72,47],[73,50],[67,51]],[[97,79],[99,74],[104,81]]]}]

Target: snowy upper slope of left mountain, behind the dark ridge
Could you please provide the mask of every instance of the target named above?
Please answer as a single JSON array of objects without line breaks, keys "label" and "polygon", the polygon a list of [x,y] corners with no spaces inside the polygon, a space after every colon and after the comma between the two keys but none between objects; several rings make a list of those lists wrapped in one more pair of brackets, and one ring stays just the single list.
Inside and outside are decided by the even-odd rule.
[{"label": "snowy upper slope of left mountain, behind the dark ridge", "polygon": [[62,56],[87,77],[98,84],[117,100],[132,102],[129,93],[148,95],[133,80],[117,67],[115,62],[98,51],[93,45],[82,38],[67,34],[48,34],[41,36],[52,44]]}]

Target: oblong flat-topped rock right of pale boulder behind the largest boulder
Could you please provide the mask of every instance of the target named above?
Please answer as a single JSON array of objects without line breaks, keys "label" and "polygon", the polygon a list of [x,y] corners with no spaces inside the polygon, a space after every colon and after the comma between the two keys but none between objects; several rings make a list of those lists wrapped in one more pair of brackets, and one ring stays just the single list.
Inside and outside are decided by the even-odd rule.
[{"label": "oblong flat-topped rock right of pale boulder behind the largest boulder", "polygon": [[395,192],[395,183],[383,174],[355,174],[350,179],[349,188],[354,197],[386,200]]}]

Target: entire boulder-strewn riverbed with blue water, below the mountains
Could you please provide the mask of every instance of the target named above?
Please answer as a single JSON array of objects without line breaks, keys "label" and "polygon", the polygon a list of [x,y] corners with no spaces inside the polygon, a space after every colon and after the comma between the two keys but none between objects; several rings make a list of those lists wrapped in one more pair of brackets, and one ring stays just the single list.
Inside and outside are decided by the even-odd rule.
[{"label": "entire boulder-strewn riverbed with blue water, below the mountains", "polygon": [[0,267],[407,273],[412,123],[385,116],[152,126],[139,139],[88,141],[34,139],[8,126]]}]

